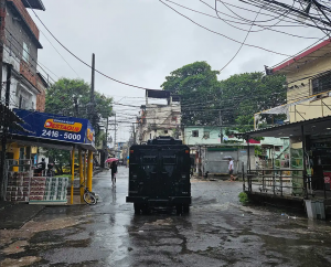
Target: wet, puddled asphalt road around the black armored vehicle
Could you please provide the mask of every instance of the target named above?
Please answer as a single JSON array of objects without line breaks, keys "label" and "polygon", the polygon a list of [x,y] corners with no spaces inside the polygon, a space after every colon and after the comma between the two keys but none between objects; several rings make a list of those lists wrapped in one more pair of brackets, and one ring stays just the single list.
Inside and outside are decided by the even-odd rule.
[{"label": "wet, puddled asphalt road around the black armored vehicle", "polygon": [[51,206],[8,233],[1,266],[331,266],[331,223],[242,206],[239,182],[192,180],[190,215],[134,215],[128,169],[94,180],[95,206]]}]

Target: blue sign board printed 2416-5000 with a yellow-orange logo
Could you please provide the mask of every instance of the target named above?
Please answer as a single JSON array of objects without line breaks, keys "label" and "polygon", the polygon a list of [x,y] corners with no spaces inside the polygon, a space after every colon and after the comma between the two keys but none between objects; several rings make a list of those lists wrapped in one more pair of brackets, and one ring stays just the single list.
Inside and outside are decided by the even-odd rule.
[{"label": "blue sign board printed 2416-5000 with a yellow-orange logo", "polygon": [[21,124],[30,132],[12,134],[64,142],[87,143],[94,147],[95,131],[87,119],[66,117],[54,114],[13,109],[25,124]]}]

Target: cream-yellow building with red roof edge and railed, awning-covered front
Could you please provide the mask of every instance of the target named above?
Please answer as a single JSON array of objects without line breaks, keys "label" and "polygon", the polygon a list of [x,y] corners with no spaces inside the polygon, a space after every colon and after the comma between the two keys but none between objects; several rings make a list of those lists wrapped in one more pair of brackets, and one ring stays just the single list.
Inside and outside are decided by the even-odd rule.
[{"label": "cream-yellow building with red roof edge and railed, awning-covered front", "polygon": [[[321,201],[325,212],[331,213],[330,53],[331,39],[267,68],[267,74],[286,76],[287,104],[256,114],[255,130],[245,135],[247,138],[289,137],[289,168],[279,165],[270,173],[264,171],[258,184],[249,180],[246,189],[250,195],[264,199],[271,193],[268,201],[273,197],[277,203],[290,200],[291,204],[298,203],[299,206],[305,206],[302,202],[307,200]],[[287,120],[284,125],[259,129],[265,114],[285,114]],[[277,194],[279,197],[275,197]],[[324,212],[323,207],[319,211]]]}]

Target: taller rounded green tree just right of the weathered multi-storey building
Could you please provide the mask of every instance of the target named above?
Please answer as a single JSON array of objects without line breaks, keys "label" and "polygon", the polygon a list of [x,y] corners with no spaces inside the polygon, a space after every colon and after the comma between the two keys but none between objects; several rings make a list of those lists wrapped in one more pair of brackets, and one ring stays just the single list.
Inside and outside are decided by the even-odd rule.
[{"label": "taller rounded green tree just right of the weathered multi-storey building", "polygon": [[166,77],[162,89],[181,96],[183,125],[217,125],[217,74],[220,72],[212,71],[206,62],[194,62]]}]

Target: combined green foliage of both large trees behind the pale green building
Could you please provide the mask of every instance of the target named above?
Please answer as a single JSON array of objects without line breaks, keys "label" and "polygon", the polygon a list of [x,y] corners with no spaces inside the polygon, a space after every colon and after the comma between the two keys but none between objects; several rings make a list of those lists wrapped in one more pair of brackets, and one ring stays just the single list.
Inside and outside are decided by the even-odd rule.
[{"label": "combined green foliage of both large trees behind the pale green building", "polygon": [[253,129],[254,114],[286,103],[285,76],[254,72],[218,82],[217,74],[206,62],[195,62],[166,77],[161,87],[181,96],[183,125],[218,125],[222,109],[223,125],[244,132]]}]

